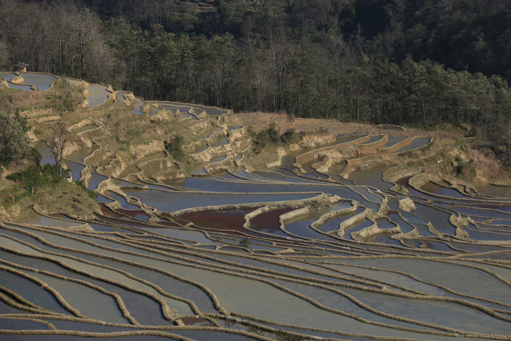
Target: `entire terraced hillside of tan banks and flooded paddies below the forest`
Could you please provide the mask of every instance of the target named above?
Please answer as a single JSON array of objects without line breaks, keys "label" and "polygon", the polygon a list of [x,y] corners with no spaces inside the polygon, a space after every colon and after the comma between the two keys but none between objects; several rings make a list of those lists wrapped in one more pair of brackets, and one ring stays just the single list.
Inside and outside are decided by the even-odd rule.
[{"label": "entire terraced hillside of tan banks and flooded paddies below the forest", "polygon": [[[30,75],[0,74],[57,93]],[[511,338],[511,192],[438,176],[470,142],[373,127],[255,154],[243,115],[66,82],[81,108],[24,112],[43,162],[73,123],[66,167],[98,204],[4,209],[6,339]]]}]

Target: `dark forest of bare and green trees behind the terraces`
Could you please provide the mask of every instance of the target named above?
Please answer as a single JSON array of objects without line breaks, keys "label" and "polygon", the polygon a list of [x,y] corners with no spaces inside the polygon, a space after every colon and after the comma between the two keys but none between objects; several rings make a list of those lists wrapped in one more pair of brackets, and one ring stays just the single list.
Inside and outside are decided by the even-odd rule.
[{"label": "dark forest of bare and green trees behind the terraces", "polygon": [[508,1],[0,4],[4,66],[148,100],[511,136]]}]

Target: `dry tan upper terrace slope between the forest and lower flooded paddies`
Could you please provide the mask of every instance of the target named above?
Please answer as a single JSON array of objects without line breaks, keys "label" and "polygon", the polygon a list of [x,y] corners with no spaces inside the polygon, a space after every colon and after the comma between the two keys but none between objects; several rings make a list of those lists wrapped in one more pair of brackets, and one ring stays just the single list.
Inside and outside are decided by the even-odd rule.
[{"label": "dry tan upper terrace slope between the forest and lower flooded paddies", "polygon": [[[108,86],[106,87],[108,90]],[[86,96],[90,96],[90,92],[86,94],[86,88],[84,91],[83,86],[74,86],[73,89],[78,104],[81,104]],[[206,107],[191,104],[171,102],[148,104],[142,99],[141,107],[148,112],[142,110],[138,115],[134,115],[132,106],[115,103],[116,101],[111,99],[113,94],[117,93],[112,93],[111,89],[105,92],[108,93],[107,99],[98,102],[97,106],[77,105],[74,111],[59,112],[57,105],[51,105],[53,103],[51,101],[55,101],[50,98],[51,91],[52,88],[43,92],[21,91],[9,96],[11,102],[21,108],[22,113],[30,120],[33,126],[30,137],[34,141],[49,141],[48,128],[60,119],[73,123],[70,124],[72,131],[78,131],[86,126],[91,127],[75,133],[65,153],[69,155],[93,147],[97,149],[83,162],[86,167],[83,171],[86,181],[91,173],[129,178],[132,181],[147,179],[165,181],[167,178],[186,176],[187,170],[191,173],[190,169],[194,163],[202,162],[204,165],[197,171],[201,175],[221,169],[233,170],[235,164],[245,166],[247,169],[267,169],[281,166],[283,156],[293,151],[298,152],[294,160],[295,166],[301,167],[307,163],[305,165],[307,172],[312,172],[316,176],[328,173],[331,167],[342,162],[346,165],[341,174],[344,178],[356,170],[388,165],[398,166],[385,173],[387,179],[396,177],[392,174],[427,172],[432,179],[445,178],[453,184],[468,186],[462,179],[479,183],[488,180],[491,183],[505,185],[505,181],[501,179],[507,178],[496,178],[495,174],[502,174],[504,168],[490,149],[470,149],[467,144],[460,142],[461,137],[455,133],[386,129],[384,126],[293,118],[277,113],[253,112],[231,115],[230,111],[218,108],[208,111]],[[129,93],[124,95],[125,98],[126,96],[133,97]],[[133,99],[134,97],[131,100]],[[130,99],[126,101],[130,102]],[[156,121],[151,119],[149,111],[154,115],[158,109],[169,111],[172,108],[188,111],[189,115],[194,115],[194,119],[180,121],[177,113],[167,115],[166,119]],[[198,118],[200,120],[197,121]],[[126,124],[127,122],[129,124]],[[243,143],[243,147],[250,146],[248,138],[250,131],[257,133],[267,128],[270,123],[275,123],[275,128],[280,134],[291,129],[301,133],[300,141],[294,144],[269,144],[257,155],[250,147],[243,150],[243,154],[238,152],[238,148],[241,148],[238,144]],[[164,141],[171,141],[177,135],[183,138],[184,150],[190,154],[193,149],[196,154],[188,156],[185,161],[174,160],[171,155],[156,157],[165,150]],[[339,139],[357,136],[360,136],[360,139],[334,145]],[[432,141],[426,146],[406,150],[407,147],[414,145],[415,141],[420,140],[414,139],[419,136],[429,136]],[[398,137],[403,139],[400,140]],[[392,145],[389,143],[390,138],[394,139],[392,141],[399,141]],[[304,153],[300,154],[300,150],[304,150]],[[149,161],[145,158],[149,158]],[[314,162],[316,159],[317,162]],[[459,171],[463,168],[461,166],[464,166],[464,173]]]}]

